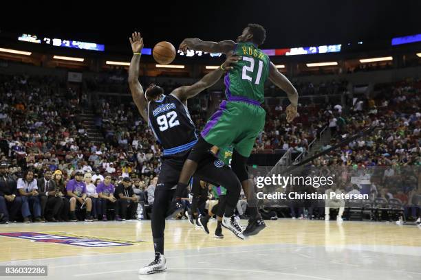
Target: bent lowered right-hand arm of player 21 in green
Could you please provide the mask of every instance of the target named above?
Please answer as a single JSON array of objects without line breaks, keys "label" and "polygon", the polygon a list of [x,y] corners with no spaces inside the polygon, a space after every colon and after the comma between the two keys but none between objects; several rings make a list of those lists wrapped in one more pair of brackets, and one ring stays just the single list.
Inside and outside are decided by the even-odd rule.
[{"label": "bent lowered right-hand arm of player 21 in green", "polygon": [[286,108],[286,117],[287,121],[291,122],[297,115],[296,106],[298,105],[298,92],[291,84],[290,80],[282,75],[272,62],[270,62],[269,80],[273,82],[275,86],[278,86],[279,89],[282,89],[287,93],[291,104]]}]

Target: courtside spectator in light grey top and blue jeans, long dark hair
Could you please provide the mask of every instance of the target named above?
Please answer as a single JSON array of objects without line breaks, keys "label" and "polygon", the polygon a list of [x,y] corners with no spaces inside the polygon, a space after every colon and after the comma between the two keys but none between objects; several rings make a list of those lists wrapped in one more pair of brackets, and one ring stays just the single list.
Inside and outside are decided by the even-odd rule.
[{"label": "courtside spectator in light grey top and blue jeans, long dark hair", "polygon": [[[39,203],[39,192],[36,180],[34,180],[34,172],[27,170],[23,173],[23,178],[17,181],[17,189],[22,197],[22,215],[23,222],[31,222],[31,215],[34,222],[45,222],[41,219],[41,205]],[[32,208],[32,212],[30,209]]]}]

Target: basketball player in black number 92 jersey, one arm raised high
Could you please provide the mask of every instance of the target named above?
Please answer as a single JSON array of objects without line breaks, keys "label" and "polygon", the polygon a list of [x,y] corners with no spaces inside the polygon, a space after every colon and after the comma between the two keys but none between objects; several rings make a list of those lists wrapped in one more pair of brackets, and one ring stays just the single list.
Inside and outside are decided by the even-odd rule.
[{"label": "basketball player in black number 92 jersey, one arm raised high", "polygon": [[[180,86],[171,94],[164,96],[164,90],[151,84],[143,91],[138,80],[140,54],[143,48],[143,39],[138,32],[129,38],[133,58],[129,67],[129,87],[133,101],[138,107],[140,115],[148,122],[155,138],[162,146],[162,166],[158,183],[155,188],[155,200],[152,209],[152,235],[155,248],[155,259],[144,268],[140,274],[151,274],[166,269],[164,257],[164,229],[166,213],[171,205],[178,178],[191,148],[197,142],[195,125],[187,109],[187,100],[194,97],[204,89],[213,86],[225,71],[233,69],[230,65],[239,60],[238,57],[228,58],[224,64],[191,86]],[[195,176],[214,185],[223,185],[227,189],[226,217],[232,217],[229,222],[230,231],[237,237],[244,239],[242,229],[234,217],[234,210],[239,199],[241,183],[237,176],[210,153],[199,162]],[[182,208],[180,209],[182,210]]]}]

